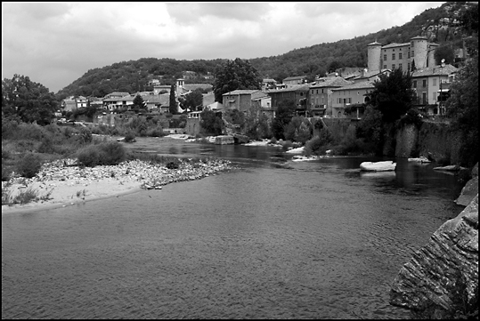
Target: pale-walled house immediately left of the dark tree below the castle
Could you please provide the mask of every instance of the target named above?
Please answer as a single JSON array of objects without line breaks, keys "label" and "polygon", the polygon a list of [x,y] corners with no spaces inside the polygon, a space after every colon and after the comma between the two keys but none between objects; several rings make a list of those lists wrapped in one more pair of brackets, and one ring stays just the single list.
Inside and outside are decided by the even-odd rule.
[{"label": "pale-walled house immediately left of the dark tree below the castle", "polygon": [[[362,83],[347,84],[343,87],[331,89],[331,116],[345,117],[345,109],[347,106],[354,104],[363,104],[368,102],[367,93],[373,91],[375,86],[371,81],[364,81]],[[358,111],[358,109],[357,109]],[[357,114],[357,117],[359,115]]]}]

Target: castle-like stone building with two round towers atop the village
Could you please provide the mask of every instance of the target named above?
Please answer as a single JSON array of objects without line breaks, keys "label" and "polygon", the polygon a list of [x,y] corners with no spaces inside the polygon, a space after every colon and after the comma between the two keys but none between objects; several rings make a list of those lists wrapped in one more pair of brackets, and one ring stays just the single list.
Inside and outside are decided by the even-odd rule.
[{"label": "castle-like stone building with two round towers atop the village", "polygon": [[368,69],[411,70],[435,66],[435,49],[438,44],[428,43],[426,36],[414,36],[409,43],[379,44],[377,41],[367,45]]}]

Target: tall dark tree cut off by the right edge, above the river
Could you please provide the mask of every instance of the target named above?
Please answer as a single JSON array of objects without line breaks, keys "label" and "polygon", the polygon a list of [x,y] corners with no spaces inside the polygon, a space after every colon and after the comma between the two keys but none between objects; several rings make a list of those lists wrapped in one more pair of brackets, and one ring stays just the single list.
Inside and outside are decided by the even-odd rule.
[{"label": "tall dark tree cut off by the right edge, above the river", "polygon": [[460,162],[473,166],[478,162],[478,56],[460,68],[445,107],[452,128],[462,135]]}]

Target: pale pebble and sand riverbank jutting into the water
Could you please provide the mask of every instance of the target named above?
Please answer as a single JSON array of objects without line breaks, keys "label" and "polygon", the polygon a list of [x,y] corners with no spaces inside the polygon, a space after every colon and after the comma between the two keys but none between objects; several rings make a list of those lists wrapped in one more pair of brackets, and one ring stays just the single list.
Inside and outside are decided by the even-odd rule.
[{"label": "pale pebble and sand riverbank jutting into the water", "polygon": [[36,195],[34,201],[26,204],[2,205],[2,213],[40,211],[118,197],[142,189],[161,189],[175,181],[199,180],[232,169],[229,161],[220,159],[179,160],[176,168],[139,160],[83,168],[72,166],[74,163],[74,159],[57,160],[43,165],[31,179],[2,181],[3,203],[4,197],[13,200],[28,192]]}]

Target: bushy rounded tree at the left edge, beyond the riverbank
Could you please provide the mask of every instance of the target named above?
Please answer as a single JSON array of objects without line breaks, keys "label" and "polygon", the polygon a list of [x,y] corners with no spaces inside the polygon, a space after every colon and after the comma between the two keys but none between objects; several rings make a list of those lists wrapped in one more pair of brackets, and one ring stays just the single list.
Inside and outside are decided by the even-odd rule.
[{"label": "bushy rounded tree at the left edge, beyond the riverbank", "polygon": [[28,76],[15,74],[2,81],[2,116],[20,116],[26,123],[50,124],[58,108],[53,92]]}]

